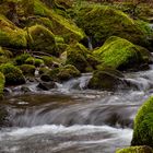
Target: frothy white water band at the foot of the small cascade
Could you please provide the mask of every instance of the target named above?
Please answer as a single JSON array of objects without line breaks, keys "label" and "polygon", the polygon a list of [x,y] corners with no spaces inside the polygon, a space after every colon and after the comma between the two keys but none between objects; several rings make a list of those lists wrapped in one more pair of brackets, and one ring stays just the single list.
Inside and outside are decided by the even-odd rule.
[{"label": "frothy white water band at the foot of the small cascade", "polygon": [[[103,134],[102,134],[103,133]],[[92,136],[93,139],[90,139]],[[94,137],[95,136],[95,137]],[[40,148],[36,148],[35,141],[47,142],[50,152],[67,152],[72,148],[90,151],[92,148],[107,148],[106,152],[111,152],[115,146],[129,145],[132,137],[131,129],[116,129],[108,126],[72,126],[63,127],[56,125],[44,125],[33,128],[8,129],[0,133],[1,152],[25,152],[28,151],[30,144],[35,148],[35,152],[43,152]],[[57,144],[52,145],[49,139],[59,139]],[[67,139],[66,139],[67,138]],[[62,141],[64,139],[64,141]],[[25,143],[26,141],[26,143]],[[23,143],[26,145],[23,148]],[[19,145],[20,144],[20,145]],[[35,146],[36,145],[36,146]],[[42,145],[42,144],[39,144]],[[103,150],[103,148],[101,149]],[[72,152],[72,151],[71,151]],[[75,152],[75,151],[74,151]],[[78,150],[78,152],[80,152]],[[86,152],[86,151],[85,151]],[[96,153],[98,153],[97,151]],[[33,153],[30,151],[28,153]]]}]

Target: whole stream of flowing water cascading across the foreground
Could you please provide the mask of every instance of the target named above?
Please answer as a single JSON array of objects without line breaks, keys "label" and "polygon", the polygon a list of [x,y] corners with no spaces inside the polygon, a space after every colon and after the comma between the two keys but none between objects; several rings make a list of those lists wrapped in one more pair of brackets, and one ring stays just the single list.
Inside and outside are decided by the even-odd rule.
[{"label": "whole stream of flowing water cascading across the foreground", "polygon": [[153,66],[125,75],[133,87],[117,92],[87,90],[91,74],[50,91],[35,83],[27,93],[10,89],[0,103],[0,153],[115,153],[130,145],[137,110],[153,94]]}]

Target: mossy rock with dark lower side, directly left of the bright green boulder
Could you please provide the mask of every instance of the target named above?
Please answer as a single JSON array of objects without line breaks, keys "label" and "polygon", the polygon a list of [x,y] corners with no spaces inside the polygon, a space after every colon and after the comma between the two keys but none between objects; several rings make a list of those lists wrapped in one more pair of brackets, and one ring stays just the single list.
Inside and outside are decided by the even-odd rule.
[{"label": "mossy rock with dark lower side, directly left of the bright green boulder", "polygon": [[86,68],[92,67],[87,61],[89,50],[81,44],[69,46],[67,49],[67,64],[73,64],[81,72],[86,72]]}]

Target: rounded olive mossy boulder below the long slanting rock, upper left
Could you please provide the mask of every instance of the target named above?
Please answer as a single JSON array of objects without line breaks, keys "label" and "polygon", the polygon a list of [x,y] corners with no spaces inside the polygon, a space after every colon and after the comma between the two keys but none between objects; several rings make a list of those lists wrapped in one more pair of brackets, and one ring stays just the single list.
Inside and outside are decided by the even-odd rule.
[{"label": "rounded olive mossy boulder below the long slanting rock, upper left", "polygon": [[55,35],[43,25],[34,25],[28,28],[32,37],[31,48],[35,51],[44,51],[58,56]]}]

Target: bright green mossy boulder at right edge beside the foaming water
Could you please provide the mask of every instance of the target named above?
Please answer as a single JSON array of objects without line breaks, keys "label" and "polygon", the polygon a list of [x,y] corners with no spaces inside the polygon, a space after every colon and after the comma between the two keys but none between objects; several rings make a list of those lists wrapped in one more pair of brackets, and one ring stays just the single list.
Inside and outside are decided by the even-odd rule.
[{"label": "bright green mossy boulder at right edge beside the foaming water", "polygon": [[153,97],[150,97],[138,110],[131,145],[153,148]]}]

